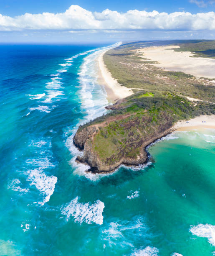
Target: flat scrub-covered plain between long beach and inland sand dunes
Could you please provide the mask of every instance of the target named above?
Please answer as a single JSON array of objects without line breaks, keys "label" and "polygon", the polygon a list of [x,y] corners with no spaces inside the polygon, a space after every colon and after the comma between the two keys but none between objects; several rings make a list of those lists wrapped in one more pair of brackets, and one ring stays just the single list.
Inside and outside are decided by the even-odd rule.
[{"label": "flat scrub-covered plain between long beach and inland sand dunes", "polygon": [[[177,44],[180,41],[147,42],[147,46],[170,44],[170,42]],[[185,41],[181,42],[183,42],[182,49],[185,49]],[[209,42],[210,45],[215,47],[215,41],[188,42],[189,47],[191,47],[190,45],[200,47],[200,44],[209,44]],[[155,67],[152,65],[153,61],[147,61],[137,56],[136,50],[145,46],[146,42],[124,44],[104,54],[104,62],[107,68],[120,84],[128,88],[144,89],[148,92],[159,91],[162,94],[171,92],[181,96],[215,102],[214,84],[210,82],[211,79],[196,79],[190,74],[165,71]]]}]

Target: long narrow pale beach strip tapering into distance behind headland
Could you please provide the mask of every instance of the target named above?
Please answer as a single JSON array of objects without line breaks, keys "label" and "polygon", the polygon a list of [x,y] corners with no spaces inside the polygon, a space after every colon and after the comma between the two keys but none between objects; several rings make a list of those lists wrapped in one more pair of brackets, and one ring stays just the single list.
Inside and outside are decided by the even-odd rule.
[{"label": "long narrow pale beach strip tapering into distance behind headland", "polygon": [[105,52],[106,51],[102,52],[97,59],[99,69],[98,82],[104,86],[107,99],[110,102],[116,102],[116,100],[132,95],[133,91],[125,86],[121,86],[116,79],[111,76],[111,73],[108,71],[103,61]]}]

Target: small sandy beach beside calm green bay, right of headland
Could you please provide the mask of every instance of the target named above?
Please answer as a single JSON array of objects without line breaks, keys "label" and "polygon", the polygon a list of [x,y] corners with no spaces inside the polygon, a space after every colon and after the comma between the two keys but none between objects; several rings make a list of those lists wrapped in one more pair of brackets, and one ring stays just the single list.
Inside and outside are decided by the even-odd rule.
[{"label": "small sandy beach beside calm green bay, right of headland", "polygon": [[181,120],[173,127],[176,131],[201,130],[204,128],[215,129],[215,115],[200,115],[190,120]]}]

